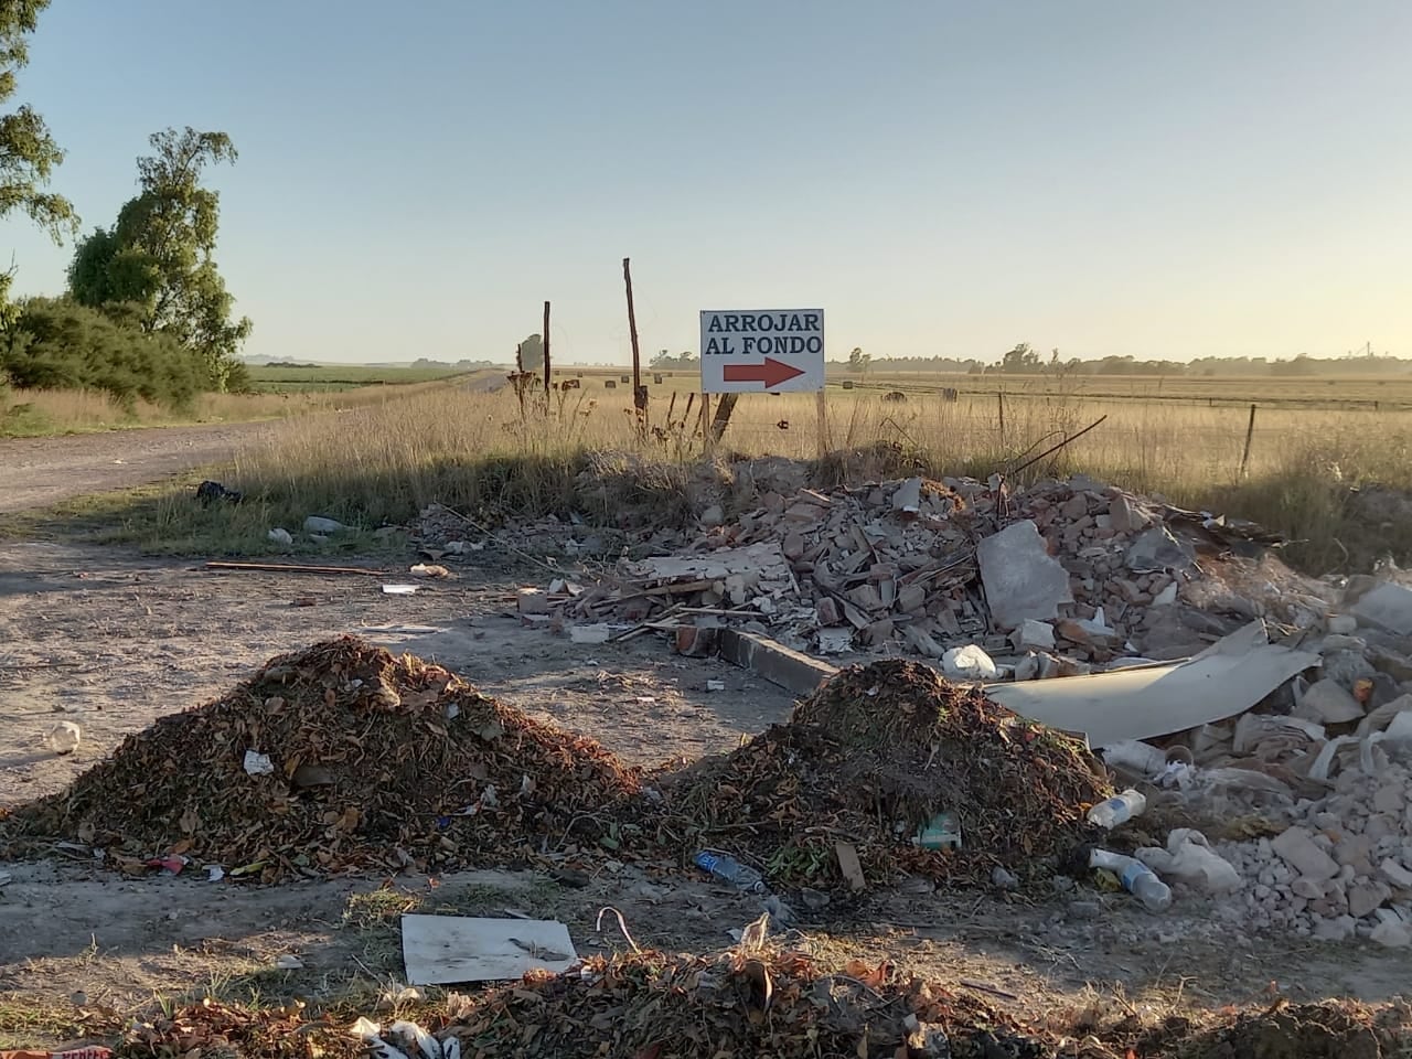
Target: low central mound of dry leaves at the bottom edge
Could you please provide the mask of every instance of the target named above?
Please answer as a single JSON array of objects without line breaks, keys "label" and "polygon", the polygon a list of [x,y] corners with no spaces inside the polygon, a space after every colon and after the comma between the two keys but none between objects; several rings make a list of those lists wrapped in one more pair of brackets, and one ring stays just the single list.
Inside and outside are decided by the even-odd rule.
[{"label": "low central mound of dry leaves at the bottom edge", "polygon": [[463,1056],[1048,1056],[979,1000],[890,966],[830,974],[796,953],[589,959],[467,1000]]}]

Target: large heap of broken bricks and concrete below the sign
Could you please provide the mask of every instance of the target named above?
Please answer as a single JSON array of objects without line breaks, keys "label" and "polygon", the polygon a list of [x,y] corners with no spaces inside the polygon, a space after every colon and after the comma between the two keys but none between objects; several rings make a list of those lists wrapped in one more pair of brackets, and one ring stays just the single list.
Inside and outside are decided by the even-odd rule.
[{"label": "large heap of broken bricks and concrete below the sign", "polygon": [[[1175,658],[1250,611],[1285,617],[1219,579],[1200,587],[1210,573],[1202,556],[1258,555],[1278,538],[1087,479],[1011,494],[998,479],[819,490],[778,469],[737,474],[751,486],[737,483],[733,518],[712,503],[693,530],[644,531],[637,551],[645,558],[624,559],[583,589],[556,585],[552,599],[527,594],[527,618],[746,626],[825,655],[943,658],[976,645],[1001,655],[997,672],[1032,678],[1144,652]],[[521,527],[517,539],[556,528],[570,531],[559,538],[563,554],[585,554],[592,534],[565,522]],[[1267,562],[1276,580],[1302,580]],[[1313,617],[1316,593],[1305,593]]]}]

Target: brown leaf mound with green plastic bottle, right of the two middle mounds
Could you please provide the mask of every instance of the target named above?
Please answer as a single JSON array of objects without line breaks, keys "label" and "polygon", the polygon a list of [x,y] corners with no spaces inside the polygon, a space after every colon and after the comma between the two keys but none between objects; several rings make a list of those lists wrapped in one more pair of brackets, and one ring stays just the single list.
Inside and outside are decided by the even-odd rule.
[{"label": "brown leaf mound with green plastic bottle, right of the two middle mounds", "polygon": [[[748,853],[772,884],[837,888],[840,842],[871,884],[1052,877],[1093,840],[1084,813],[1111,789],[1080,740],[888,659],[844,669],[786,724],[668,777],[664,795],[668,829]],[[923,842],[942,815],[959,849]]]}]

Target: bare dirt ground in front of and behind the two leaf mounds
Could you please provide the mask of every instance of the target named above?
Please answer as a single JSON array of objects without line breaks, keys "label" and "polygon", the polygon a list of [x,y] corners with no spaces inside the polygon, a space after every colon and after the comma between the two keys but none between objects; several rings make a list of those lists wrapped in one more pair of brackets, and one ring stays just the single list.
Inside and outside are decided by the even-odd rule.
[{"label": "bare dirt ground in front of and behind the two leaf mounds", "polygon": [[[0,806],[62,789],[127,733],[215,698],[274,654],[342,633],[438,661],[638,764],[729,750],[791,707],[779,689],[720,661],[679,658],[659,640],[582,647],[527,630],[513,616],[515,580],[503,575],[466,568],[415,596],[385,596],[380,583],[213,573],[116,549],[6,544]],[[724,681],[726,690],[706,690],[707,679]],[[56,720],[83,729],[71,757],[42,746]],[[626,943],[616,928],[597,929],[606,904],[623,911],[640,945],[672,950],[730,945],[729,931],[761,911],[758,898],[695,873],[611,863],[583,888],[504,871],[281,887],[128,880],[64,850],[51,861],[0,864],[3,873],[11,880],[0,885],[0,1045],[44,1039],[44,1024],[24,1012],[75,1003],[128,1011],[154,994],[249,1001],[326,995],[352,983],[393,988],[401,976],[397,914],[414,907],[561,918],[580,953]],[[1197,898],[1149,915],[1123,894],[1069,891],[1031,902],[901,887],[847,909],[809,912],[798,901],[795,909],[785,939],[795,947],[966,979],[1017,1014],[1096,1001],[1152,1011],[1276,995],[1378,1001],[1408,983],[1405,955],[1231,931]],[[281,955],[304,966],[281,970]]]}]

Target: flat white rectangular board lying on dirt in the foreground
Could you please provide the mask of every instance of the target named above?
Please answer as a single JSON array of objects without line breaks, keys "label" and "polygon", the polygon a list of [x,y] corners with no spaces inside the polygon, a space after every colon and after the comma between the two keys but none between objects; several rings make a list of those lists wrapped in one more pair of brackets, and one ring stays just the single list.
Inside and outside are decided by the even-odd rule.
[{"label": "flat white rectangular board lying on dirt in the foreground", "polygon": [[404,915],[402,963],[408,986],[505,981],[579,962],[569,928],[554,919],[476,919]]}]

